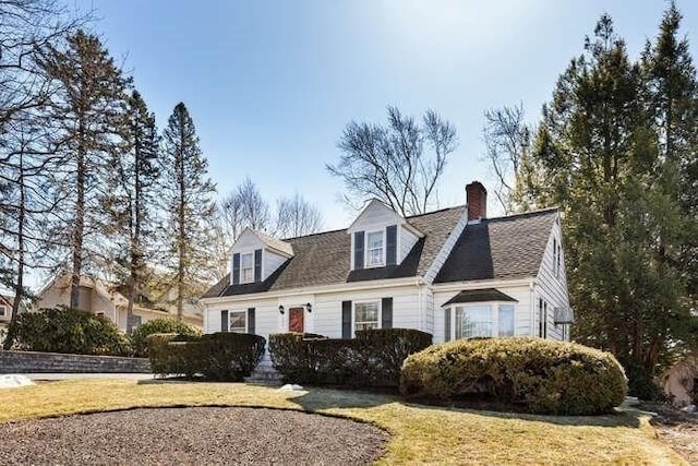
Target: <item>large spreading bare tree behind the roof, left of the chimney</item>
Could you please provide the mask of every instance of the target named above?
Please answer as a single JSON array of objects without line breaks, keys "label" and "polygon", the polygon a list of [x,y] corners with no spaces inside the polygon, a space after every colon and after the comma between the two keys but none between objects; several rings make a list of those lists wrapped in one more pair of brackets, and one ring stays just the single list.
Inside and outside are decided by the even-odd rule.
[{"label": "large spreading bare tree behind the roof, left of the chimney", "polygon": [[387,108],[387,126],[351,121],[327,170],[340,178],[347,204],[358,208],[377,198],[401,215],[436,206],[436,186],[446,159],[457,147],[454,126],[428,110],[421,126],[396,107]]}]

